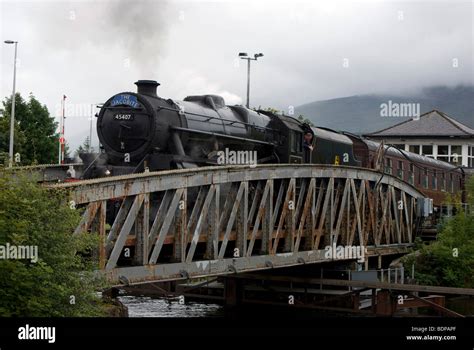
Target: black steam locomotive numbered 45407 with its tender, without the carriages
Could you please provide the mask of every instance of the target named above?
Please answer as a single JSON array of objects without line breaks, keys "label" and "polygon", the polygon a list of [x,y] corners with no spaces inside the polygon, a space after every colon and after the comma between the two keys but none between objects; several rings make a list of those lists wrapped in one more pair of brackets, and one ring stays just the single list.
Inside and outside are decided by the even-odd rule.
[{"label": "black steam locomotive numbered 45407 with its tender, without the carriages", "polygon": [[[334,163],[360,166],[351,140],[298,120],[243,106],[226,106],[216,95],[188,96],[183,101],[156,94],[153,80],[135,83],[137,93],[111,97],[98,114],[103,153],[86,178],[222,164],[219,152],[253,152],[264,163]],[[314,148],[305,158],[304,134]]]}]

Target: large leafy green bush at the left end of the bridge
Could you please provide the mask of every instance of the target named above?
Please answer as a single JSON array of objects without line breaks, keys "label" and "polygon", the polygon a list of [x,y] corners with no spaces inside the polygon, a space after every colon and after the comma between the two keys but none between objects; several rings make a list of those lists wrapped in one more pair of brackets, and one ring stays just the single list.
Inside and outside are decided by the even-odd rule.
[{"label": "large leafy green bush at the left end of the bridge", "polygon": [[45,189],[25,174],[0,175],[0,245],[38,246],[36,263],[0,259],[0,316],[103,315],[96,291],[105,285],[90,258],[98,238],[73,236],[79,220],[65,193]]}]

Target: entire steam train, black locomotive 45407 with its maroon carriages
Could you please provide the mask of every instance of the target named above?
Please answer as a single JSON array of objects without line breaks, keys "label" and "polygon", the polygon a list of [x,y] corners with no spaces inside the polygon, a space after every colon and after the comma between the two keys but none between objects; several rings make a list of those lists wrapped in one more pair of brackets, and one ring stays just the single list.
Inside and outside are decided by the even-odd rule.
[{"label": "entire steam train, black locomotive 45407 with its maroon carriages", "polygon": [[[102,152],[85,159],[85,178],[220,164],[218,154],[254,152],[257,163],[336,164],[379,169],[417,187],[439,206],[464,173],[449,163],[350,133],[311,127],[290,116],[227,106],[216,95],[161,98],[159,84],[112,96],[97,115]],[[305,145],[305,134],[310,134]],[[311,146],[311,147],[309,147]],[[312,150],[311,150],[312,148]]]}]

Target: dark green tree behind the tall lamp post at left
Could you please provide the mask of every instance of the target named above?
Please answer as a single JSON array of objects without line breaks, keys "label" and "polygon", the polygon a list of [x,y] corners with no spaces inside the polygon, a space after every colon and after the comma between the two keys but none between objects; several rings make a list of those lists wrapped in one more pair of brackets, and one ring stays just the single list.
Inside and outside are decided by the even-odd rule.
[{"label": "dark green tree behind the tall lamp post at left", "polygon": [[[10,140],[11,97],[3,101],[0,118],[0,152],[8,153]],[[19,93],[15,99],[14,152],[20,154],[19,165],[56,163],[58,160],[57,123],[48,109],[32,94],[24,100]]]}]

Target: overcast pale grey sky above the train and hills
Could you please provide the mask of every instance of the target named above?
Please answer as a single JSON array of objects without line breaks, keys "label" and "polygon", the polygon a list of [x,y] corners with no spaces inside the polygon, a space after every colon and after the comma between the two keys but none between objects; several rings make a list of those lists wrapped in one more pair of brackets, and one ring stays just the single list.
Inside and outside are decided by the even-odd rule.
[{"label": "overcast pale grey sky above the train and hills", "polygon": [[0,0],[0,97],[12,88],[7,39],[19,41],[17,91],[55,116],[67,96],[72,149],[89,133],[88,106],[138,79],[160,82],[166,98],[245,103],[240,51],[265,55],[252,62],[252,106],[472,85],[473,17],[472,1],[453,0]]}]

